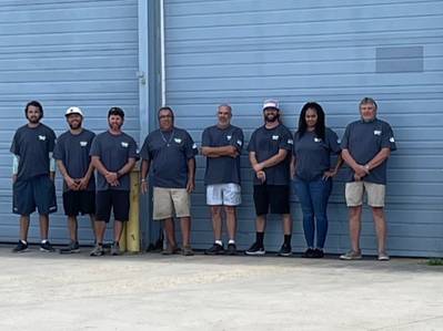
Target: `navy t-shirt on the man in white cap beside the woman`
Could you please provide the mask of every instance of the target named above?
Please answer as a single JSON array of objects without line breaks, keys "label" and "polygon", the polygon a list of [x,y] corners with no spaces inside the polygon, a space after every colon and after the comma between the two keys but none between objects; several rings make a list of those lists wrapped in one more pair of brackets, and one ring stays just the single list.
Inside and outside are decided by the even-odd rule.
[{"label": "navy t-shirt on the man in white cap beside the woman", "polygon": [[[279,124],[279,126],[271,130],[263,125],[252,133],[248,152],[255,152],[255,158],[259,163],[279,154],[280,149],[288,151],[288,156],[284,161],[264,169],[266,175],[265,184],[289,185],[292,146],[292,134],[283,124]],[[262,185],[255,174],[253,177],[254,185]]]}]

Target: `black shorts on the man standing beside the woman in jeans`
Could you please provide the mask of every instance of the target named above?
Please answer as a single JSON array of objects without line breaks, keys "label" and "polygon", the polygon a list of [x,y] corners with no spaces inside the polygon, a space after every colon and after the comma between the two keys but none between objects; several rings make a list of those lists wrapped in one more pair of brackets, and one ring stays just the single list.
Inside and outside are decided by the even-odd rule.
[{"label": "black shorts on the man standing beside the woman in jeans", "polygon": [[256,216],[271,214],[290,214],[289,185],[254,185],[254,205]]}]

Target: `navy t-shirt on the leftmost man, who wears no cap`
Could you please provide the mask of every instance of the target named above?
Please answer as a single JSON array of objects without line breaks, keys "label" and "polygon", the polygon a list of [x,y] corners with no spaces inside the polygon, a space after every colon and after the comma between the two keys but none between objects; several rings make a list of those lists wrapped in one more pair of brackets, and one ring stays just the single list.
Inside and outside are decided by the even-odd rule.
[{"label": "navy t-shirt on the leftmost man, who wears no cap", "polygon": [[37,127],[23,125],[17,130],[11,153],[19,156],[18,180],[49,175],[49,153],[53,152],[56,133],[44,124]]}]

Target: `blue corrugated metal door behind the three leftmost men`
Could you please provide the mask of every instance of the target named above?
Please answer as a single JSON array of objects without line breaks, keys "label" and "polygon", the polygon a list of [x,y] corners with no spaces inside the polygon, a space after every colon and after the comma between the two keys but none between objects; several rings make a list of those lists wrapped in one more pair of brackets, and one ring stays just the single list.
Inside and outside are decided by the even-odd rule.
[{"label": "blue corrugated metal door behind the three leftmost men", "polygon": [[[67,130],[63,112],[81,106],[85,126],[107,130],[110,106],[127,112],[124,130],[139,139],[137,0],[3,0],[0,4],[0,241],[18,238],[11,214],[10,143],[23,125],[23,106],[39,100],[44,123],[57,134]],[[50,238],[66,242],[67,227],[58,178],[59,213]],[[110,234],[109,234],[110,235]],[[81,239],[91,238],[82,218]],[[38,240],[32,219],[30,239]]]}]

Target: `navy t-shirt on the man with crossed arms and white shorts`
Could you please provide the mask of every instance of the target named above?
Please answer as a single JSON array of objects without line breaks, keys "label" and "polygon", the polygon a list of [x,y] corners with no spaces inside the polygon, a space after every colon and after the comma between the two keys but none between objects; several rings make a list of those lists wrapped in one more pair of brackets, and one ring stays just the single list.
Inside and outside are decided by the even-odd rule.
[{"label": "navy t-shirt on the man with crossed arms and white shorts", "polygon": [[[202,147],[234,146],[241,154],[243,139],[243,132],[240,127],[230,125],[225,128],[220,128],[213,125],[203,131]],[[204,184],[229,183],[240,185],[240,155],[236,157],[207,157]]]}]

